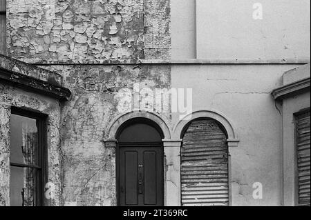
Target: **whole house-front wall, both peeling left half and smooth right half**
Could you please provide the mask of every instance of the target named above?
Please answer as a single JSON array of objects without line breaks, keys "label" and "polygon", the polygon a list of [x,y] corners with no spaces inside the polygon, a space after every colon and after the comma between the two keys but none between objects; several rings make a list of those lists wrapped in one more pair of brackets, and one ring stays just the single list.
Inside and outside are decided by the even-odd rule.
[{"label": "whole house-front wall, both peeling left half and smooth right half", "polygon": [[[271,92],[281,86],[283,72],[299,66],[285,64],[287,60],[310,59],[309,41],[305,41],[310,38],[310,10],[305,7],[310,1],[265,0],[263,20],[252,17],[255,1],[238,5],[229,0],[196,3],[7,0],[8,54],[49,71],[0,56],[1,67],[69,88],[73,98],[62,104],[59,113],[58,103],[50,99],[0,84],[0,163],[4,173],[0,177],[0,205],[8,201],[8,118],[10,106],[16,105],[50,115],[49,148],[55,155],[49,161],[50,179],[62,189],[52,204],[115,206],[115,148],[105,145],[103,139],[109,124],[125,113],[118,108],[122,100],[119,92],[133,92],[135,83],[151,90],[192,88],[193,111],[220,112],[236,127],[240,142],[238,148],[229,149],[231,204],[282,205],[282,116]],[[171,7],[176,7],[172,29]],[[284,11],[292,13],[285,16]],[[178,20],[176,14],[182,12],[190,19],[187,23]],[[180,32],[187,34],[181,36]],[[139,59],[171,59],[171,36],[173,59],[219,63],[130,64]],[[249,59],[249,63],[265,60],[267,64],[226,65],[228,59]],[[169,112],[158,113],[172,127],[179,115],[171,114],[166,104]],[[180,152],[176,150],[179,146],[175,147],[165,148],[164,179],[166,196],[167,191],[176,192],[175,200],[170,199],[178,201]],[[263,184],[263,199],[252,196],[256,182]]]}]

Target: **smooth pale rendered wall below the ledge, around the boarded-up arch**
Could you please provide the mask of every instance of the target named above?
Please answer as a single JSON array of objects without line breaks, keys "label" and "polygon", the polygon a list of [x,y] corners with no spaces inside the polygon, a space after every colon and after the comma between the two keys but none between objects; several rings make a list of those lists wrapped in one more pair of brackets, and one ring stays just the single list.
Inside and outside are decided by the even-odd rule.
[{"label": "smooth pale rendered wall below the ledge, around the boarded-up arch", "polygon": [[[172,88],[192,88],[193,110],[215,110],[236,128],[240,143],[232,155],[232,206],[280,206],[282,116],[271,92],[297,65],[172,66]],[[173,114],[173,125],[179,120]],[[263,184],[254,199],[253,183]]]}]

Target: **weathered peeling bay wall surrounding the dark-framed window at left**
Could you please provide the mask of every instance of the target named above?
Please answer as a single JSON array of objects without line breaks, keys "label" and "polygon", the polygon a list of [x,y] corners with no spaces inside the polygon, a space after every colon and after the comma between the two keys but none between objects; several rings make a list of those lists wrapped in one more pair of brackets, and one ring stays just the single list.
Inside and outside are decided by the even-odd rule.
[{"label": "weathered peeling bay wall surrounding the dark-framed window at left", "polygon": [[11,106],[48,114],[48,182],[55,184],[50,206],[61,204],[61,161],[59,141],[60,108],[55,99],[20,90],[0,82],[0,206],[10,206],[10,114]]}]

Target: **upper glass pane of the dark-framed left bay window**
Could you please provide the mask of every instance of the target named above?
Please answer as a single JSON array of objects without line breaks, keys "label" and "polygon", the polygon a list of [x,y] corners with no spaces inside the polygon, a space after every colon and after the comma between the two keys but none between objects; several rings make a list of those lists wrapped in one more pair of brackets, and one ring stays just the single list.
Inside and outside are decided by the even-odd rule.
[{"label": "upper glass pane of the dark-framed left bay window", "polygon": [[11,114],[11,163],[37,165],[38,129],[35,119]]}]

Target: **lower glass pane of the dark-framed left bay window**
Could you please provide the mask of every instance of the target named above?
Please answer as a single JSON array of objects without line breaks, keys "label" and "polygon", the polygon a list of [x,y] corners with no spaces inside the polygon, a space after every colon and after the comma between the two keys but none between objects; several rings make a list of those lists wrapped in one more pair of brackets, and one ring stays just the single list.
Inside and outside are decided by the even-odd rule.
[{"label": "lower glass pane of the dark-framed left bay window", "polygon": [[35,206],[35,172],[11,166],[10,206]]}]

